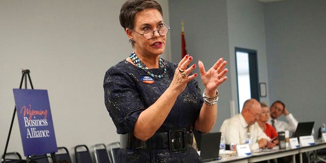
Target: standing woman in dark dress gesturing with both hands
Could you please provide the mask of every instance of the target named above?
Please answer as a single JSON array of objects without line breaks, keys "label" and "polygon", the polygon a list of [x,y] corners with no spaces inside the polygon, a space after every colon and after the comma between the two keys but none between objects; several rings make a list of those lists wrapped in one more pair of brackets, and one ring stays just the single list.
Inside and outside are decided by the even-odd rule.
[{"label": "standing woman in dark dress gesturing with both hands", "polygon": [[227,79],[226,61],[205,71],[198,62],[203,97],[186,55],[178,65],[159,58],[170,28],[155,1],[129,0],[120,23],[132,45],[130,56],[107,70],[104,98],[120,134],[116,162],[201,162],[192,130],[209,132],[217,115],[218,87]]}]

